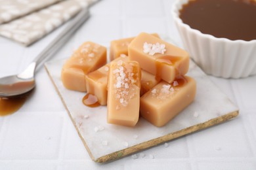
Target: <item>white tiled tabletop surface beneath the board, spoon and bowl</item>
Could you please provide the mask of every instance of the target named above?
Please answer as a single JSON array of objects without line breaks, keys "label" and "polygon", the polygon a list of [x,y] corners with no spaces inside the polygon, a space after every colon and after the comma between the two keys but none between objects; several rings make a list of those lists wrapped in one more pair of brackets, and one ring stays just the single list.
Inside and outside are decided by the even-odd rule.
[{"label": "white tiled tabletop surface beneath the board, spoon and bowl", "polygon": [[[141,31],[182,44],[171,0],[102,0],[53,59],[68,58],[83,41],[109,46]],[[61,29],[61,28],[60,28]],[[0,77],[22,71],[60,30],[29,48],[0,37]],[[0,169],[256,169],[256,76],[210,78],[240,108],[238,118],[106,164],[91,161],[45,69],[35,93],[16,113],[0,117]],[[154,156],[154,159],[150,158]],[[139,156],[139,154],[138,154]]]}]

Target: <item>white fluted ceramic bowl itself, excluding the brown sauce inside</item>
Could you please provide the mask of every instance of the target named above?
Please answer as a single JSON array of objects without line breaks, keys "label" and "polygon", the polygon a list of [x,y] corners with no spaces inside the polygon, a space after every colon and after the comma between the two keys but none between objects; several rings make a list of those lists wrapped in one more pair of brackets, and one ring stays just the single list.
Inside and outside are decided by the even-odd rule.
[{"label": "white fluted ceramic bowl itself, excluding the brown sauce inside", "polygon": [[177,0],[171,9],[184,48],[205,71],[223,78],[242,78],[256,75],[256,40],[231,41],[192,29],[179,18],[179,10],[188,0]]}]

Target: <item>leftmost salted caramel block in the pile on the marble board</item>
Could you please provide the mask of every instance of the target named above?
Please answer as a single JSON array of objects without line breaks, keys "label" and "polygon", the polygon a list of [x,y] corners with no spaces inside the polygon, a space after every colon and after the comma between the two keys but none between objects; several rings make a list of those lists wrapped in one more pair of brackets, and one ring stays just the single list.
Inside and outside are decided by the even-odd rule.
[{"label": "leftmost salted caramel block in the pile on the marble board", "polygon": [[62,83],[69,90],[86,92],[85,75],[106,64],[106,47],[84,42],[62,67]]}]

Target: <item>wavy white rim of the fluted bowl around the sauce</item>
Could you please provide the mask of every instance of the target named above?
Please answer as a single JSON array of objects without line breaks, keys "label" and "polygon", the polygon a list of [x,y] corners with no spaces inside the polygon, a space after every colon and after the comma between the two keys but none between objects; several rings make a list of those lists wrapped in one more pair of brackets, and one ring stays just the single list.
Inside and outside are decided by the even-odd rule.
[{"label": "wavy white rim of the fluted bowl around the sauce", "polygon": [[228,43],[234,43],[234,44],[237,44],[237,43],[242,43],[242,44],[256,44],[256,39],[253,39],[251,41],[245,41],[245,40],[241,40],[241,39],[238,39],[238,40],[230,40],[230,39],[227,39],[227,38],[218,38],[218,37],[214,37],[213,35],[210,35],[210,34],[207,34],[207,33],[202,33],[201,31],[199,31],[198,29],[194,29],[192,27],[190,27],[190,25],[188,24],[185,24],[181,18],[179,17],[179,8],[178,8],[178,5],[184,5],[186,3],[188,3],[188,1],[190,0],[175,0],[175,2],[173,3],[172,7],[171,7],[171,14],[173,16],[173,19],[177,22],[177,24],[185,27],[187,30],[189,31],[192,31],[193,33],[196,33],[197,35],[200,35],[200,37],[204,37],[204,38],[207,38],[207,39],[213,39],[214,41],[224,41],[224,42],[228,42]]}]

